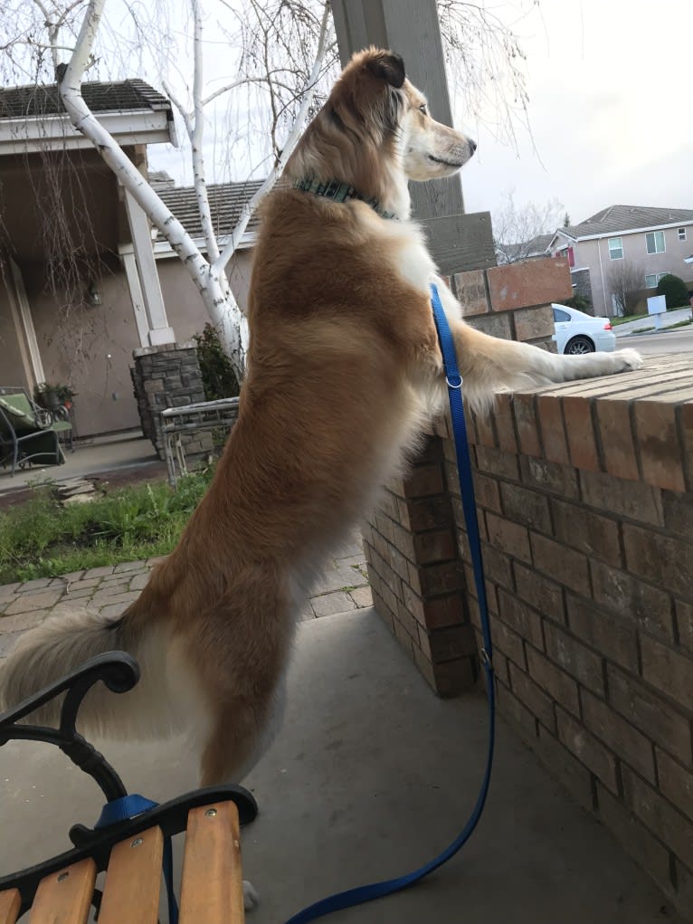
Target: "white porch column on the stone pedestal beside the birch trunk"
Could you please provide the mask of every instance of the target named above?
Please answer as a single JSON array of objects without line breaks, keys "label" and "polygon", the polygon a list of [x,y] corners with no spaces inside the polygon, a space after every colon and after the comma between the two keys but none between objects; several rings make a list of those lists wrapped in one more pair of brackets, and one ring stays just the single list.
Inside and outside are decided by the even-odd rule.
[{"label": "white porch column on the stone pedestal beside the birch trunk", "polygon": [[[156,261],[154,261],[154,251],[152,249],[152,235],[147,216],[140,208],[140,205],[133,199],[127,189],[123,190],[125,196],[125,208],[128,213],[128,225],[130,226],[130,235],[134,248],[134,259],[137,264],[137,272],[140,280],[140,297],[144,302],[144,309],[147,314],[149,330],[147,332],[146,343],[142,346],[161,346],[176,341],[176,334],[168,324],[166,310],[164,308],[164,297],[162,296],[161,286],[159,284],[159,274],[156,272]],[[128,272],[128,263],[126,262],[126,273],[128,273],[128,283],[130,274]],[[133,308],[135,310],[135,320],[138,324],[138,331],[141,329],[140,320],[138,319],[138,308],[136,306],[137,286],[130,293],[133,296]]]}]

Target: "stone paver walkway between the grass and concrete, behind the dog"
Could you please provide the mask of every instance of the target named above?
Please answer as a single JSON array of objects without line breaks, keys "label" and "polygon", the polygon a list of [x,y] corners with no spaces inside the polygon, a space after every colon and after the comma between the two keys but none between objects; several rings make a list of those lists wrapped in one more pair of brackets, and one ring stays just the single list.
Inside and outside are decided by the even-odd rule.
[{"label": "stone paver walkway between the grass and concrete, behind the dog", "polygon": [[[120,615],[137,600],[159,561],[149,558],[0,586],[0,658],[6,657],[21,632],[38,626],[63,604],[88,604],[106,616]],[[304,602],[300,618],[314,619],[371,605],[363,543],[357,533],[327,565]]]}]

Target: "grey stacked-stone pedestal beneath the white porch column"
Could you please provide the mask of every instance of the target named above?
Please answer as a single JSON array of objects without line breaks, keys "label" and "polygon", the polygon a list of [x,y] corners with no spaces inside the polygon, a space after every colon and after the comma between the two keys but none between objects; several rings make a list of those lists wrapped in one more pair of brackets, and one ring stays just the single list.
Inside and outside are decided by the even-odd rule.
[{"label": "grey stacked-stone pedestal beneath the white porch column", "polygon": [[[164,458],[160,413],[166,407],[183,407],[205,400],[197,347],[192,343],[143,346],[133,351],[130,367],[142,432]],[[209,432],[183,435],[186,456],[212,451]]]}]

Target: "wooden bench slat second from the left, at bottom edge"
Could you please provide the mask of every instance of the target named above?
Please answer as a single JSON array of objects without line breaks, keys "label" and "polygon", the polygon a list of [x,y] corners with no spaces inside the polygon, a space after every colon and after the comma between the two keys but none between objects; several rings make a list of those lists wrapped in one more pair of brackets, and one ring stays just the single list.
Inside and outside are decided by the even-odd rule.
[{"label": "wooden bench slat second from the left, at bottom edge", "polygon": [[86,924],[95,881],[91,858],[46,876],[36,890],[29,924]]}]

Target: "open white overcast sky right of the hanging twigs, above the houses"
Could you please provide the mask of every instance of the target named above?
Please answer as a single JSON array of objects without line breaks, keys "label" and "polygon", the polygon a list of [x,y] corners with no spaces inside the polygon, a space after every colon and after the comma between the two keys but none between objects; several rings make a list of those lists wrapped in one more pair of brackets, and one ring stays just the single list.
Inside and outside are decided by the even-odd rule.
[{"label": "open white overcast sky right of the hanging twigs, above the houses", "polygon": [[541,0],[517,32],[537,151],[480,128],[467,211],[509,189],[516,205],[561,201],[575,224],[616,203],[693,209],[691,0]]}]

